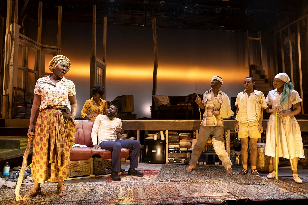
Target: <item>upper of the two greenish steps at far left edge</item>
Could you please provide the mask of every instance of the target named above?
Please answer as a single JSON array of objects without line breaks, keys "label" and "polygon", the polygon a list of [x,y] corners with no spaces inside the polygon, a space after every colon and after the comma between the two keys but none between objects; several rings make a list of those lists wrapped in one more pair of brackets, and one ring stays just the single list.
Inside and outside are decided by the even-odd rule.
[{"label": "upper of the two greenish steps at far left edge", "polygon": [[[0,149],[26,149],[28,136],[0,136]],[[33,138],[31,142],[33,147]]]}]

